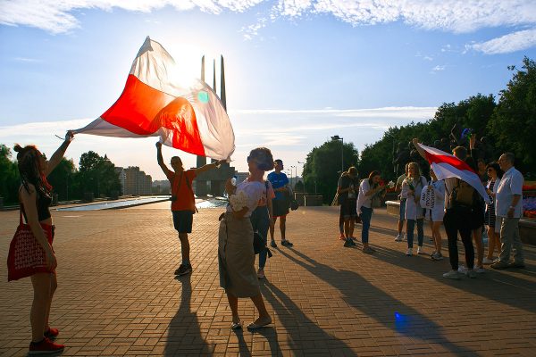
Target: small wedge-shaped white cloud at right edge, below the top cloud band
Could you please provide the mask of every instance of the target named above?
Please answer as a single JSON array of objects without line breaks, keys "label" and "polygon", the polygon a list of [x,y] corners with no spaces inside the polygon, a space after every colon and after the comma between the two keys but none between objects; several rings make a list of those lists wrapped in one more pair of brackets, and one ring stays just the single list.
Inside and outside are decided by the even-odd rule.
[{"label": "small wedge-shaped white cloud at right edge, below the top cloud band", "polygon": [[486,42],[465,46],[483,54],[509,54],[536,46],[536,29],[525,29]]}]

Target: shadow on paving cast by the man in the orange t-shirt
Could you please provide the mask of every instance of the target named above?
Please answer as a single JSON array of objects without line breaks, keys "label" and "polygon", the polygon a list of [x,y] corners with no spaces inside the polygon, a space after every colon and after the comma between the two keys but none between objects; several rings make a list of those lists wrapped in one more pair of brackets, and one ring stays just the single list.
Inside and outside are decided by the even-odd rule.
[{"label": "shadow on paving cast by the man in the orange t-shirt", "polygon": [[[199,329],[195,311],[191,311],[192,296],[191,275],[177,278],[182,283],[179,310],[168,327],[168,336],[164,349],[165,356],[179,356],[189,353],[213,353],[214,345],[206,343]],[[186,348],[185,348],[186,347]]]}]

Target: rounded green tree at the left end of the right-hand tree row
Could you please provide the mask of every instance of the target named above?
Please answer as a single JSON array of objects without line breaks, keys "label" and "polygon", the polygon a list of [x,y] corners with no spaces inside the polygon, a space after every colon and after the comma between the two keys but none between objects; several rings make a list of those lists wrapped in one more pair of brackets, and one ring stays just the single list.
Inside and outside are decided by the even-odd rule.
[{"label": "rounded green tree at the left end of the right-hand tree row", "polygon": [[[341,150],[344,150],[344,153],[341,153]],[[344,162],[342,162],[342,156],[344,156]],[[306,192],[316,192],[322,195],[324,203],[331,203],[337,192],[341,162],[345,170],[348,170],[350,166],[357,167],[359,155],[353,143],[344,143],[344,146],[341,146],[341,141],[330,140],[319,147],[314,147],[307,154],[303,170]]]}]

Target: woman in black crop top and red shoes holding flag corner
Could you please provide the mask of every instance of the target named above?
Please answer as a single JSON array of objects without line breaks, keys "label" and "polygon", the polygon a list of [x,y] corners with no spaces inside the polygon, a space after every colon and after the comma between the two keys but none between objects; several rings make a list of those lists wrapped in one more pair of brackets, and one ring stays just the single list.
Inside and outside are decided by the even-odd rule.
[{"label": "woman in black crop top and red shoes holding flag corner", "polygon": [[54,226],[48,210],[52,202],[52,187],[46,181],[46,177],[62,161],[72,137],[72,132],[68,131],[63,144],[55,151],[50,161],[46,161],[45,156],[34,145],[14,146],[21,175],[19,190],[21,211],[38,244],[43,247],[46,260],[46,268],[36,268],[30,275],[34,299],[29,315],[32,335],[29,353],[54,353],[64,348],[64,345],[54,344],[51,341],[58,336],[59,331],[48,325],[50,305],[57,287],[55,275],[57,262],[52,248]]}]

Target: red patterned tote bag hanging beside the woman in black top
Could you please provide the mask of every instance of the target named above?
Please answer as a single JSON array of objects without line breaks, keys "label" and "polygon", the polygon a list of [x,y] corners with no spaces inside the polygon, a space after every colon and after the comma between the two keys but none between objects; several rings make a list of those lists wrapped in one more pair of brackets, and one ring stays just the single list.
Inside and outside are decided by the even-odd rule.
[{"label": "red patterned tote bag hanging beside the woman in black top", "polygon": [[[48,244],[52,247],[54,226],[41,224]],[[29,224],[22,223],[22,212],[19,227],[13,236],[7,255],[7,281],[27,278],[37,273],[54,273],[46,267],[45,249],[34,237]]]}]

